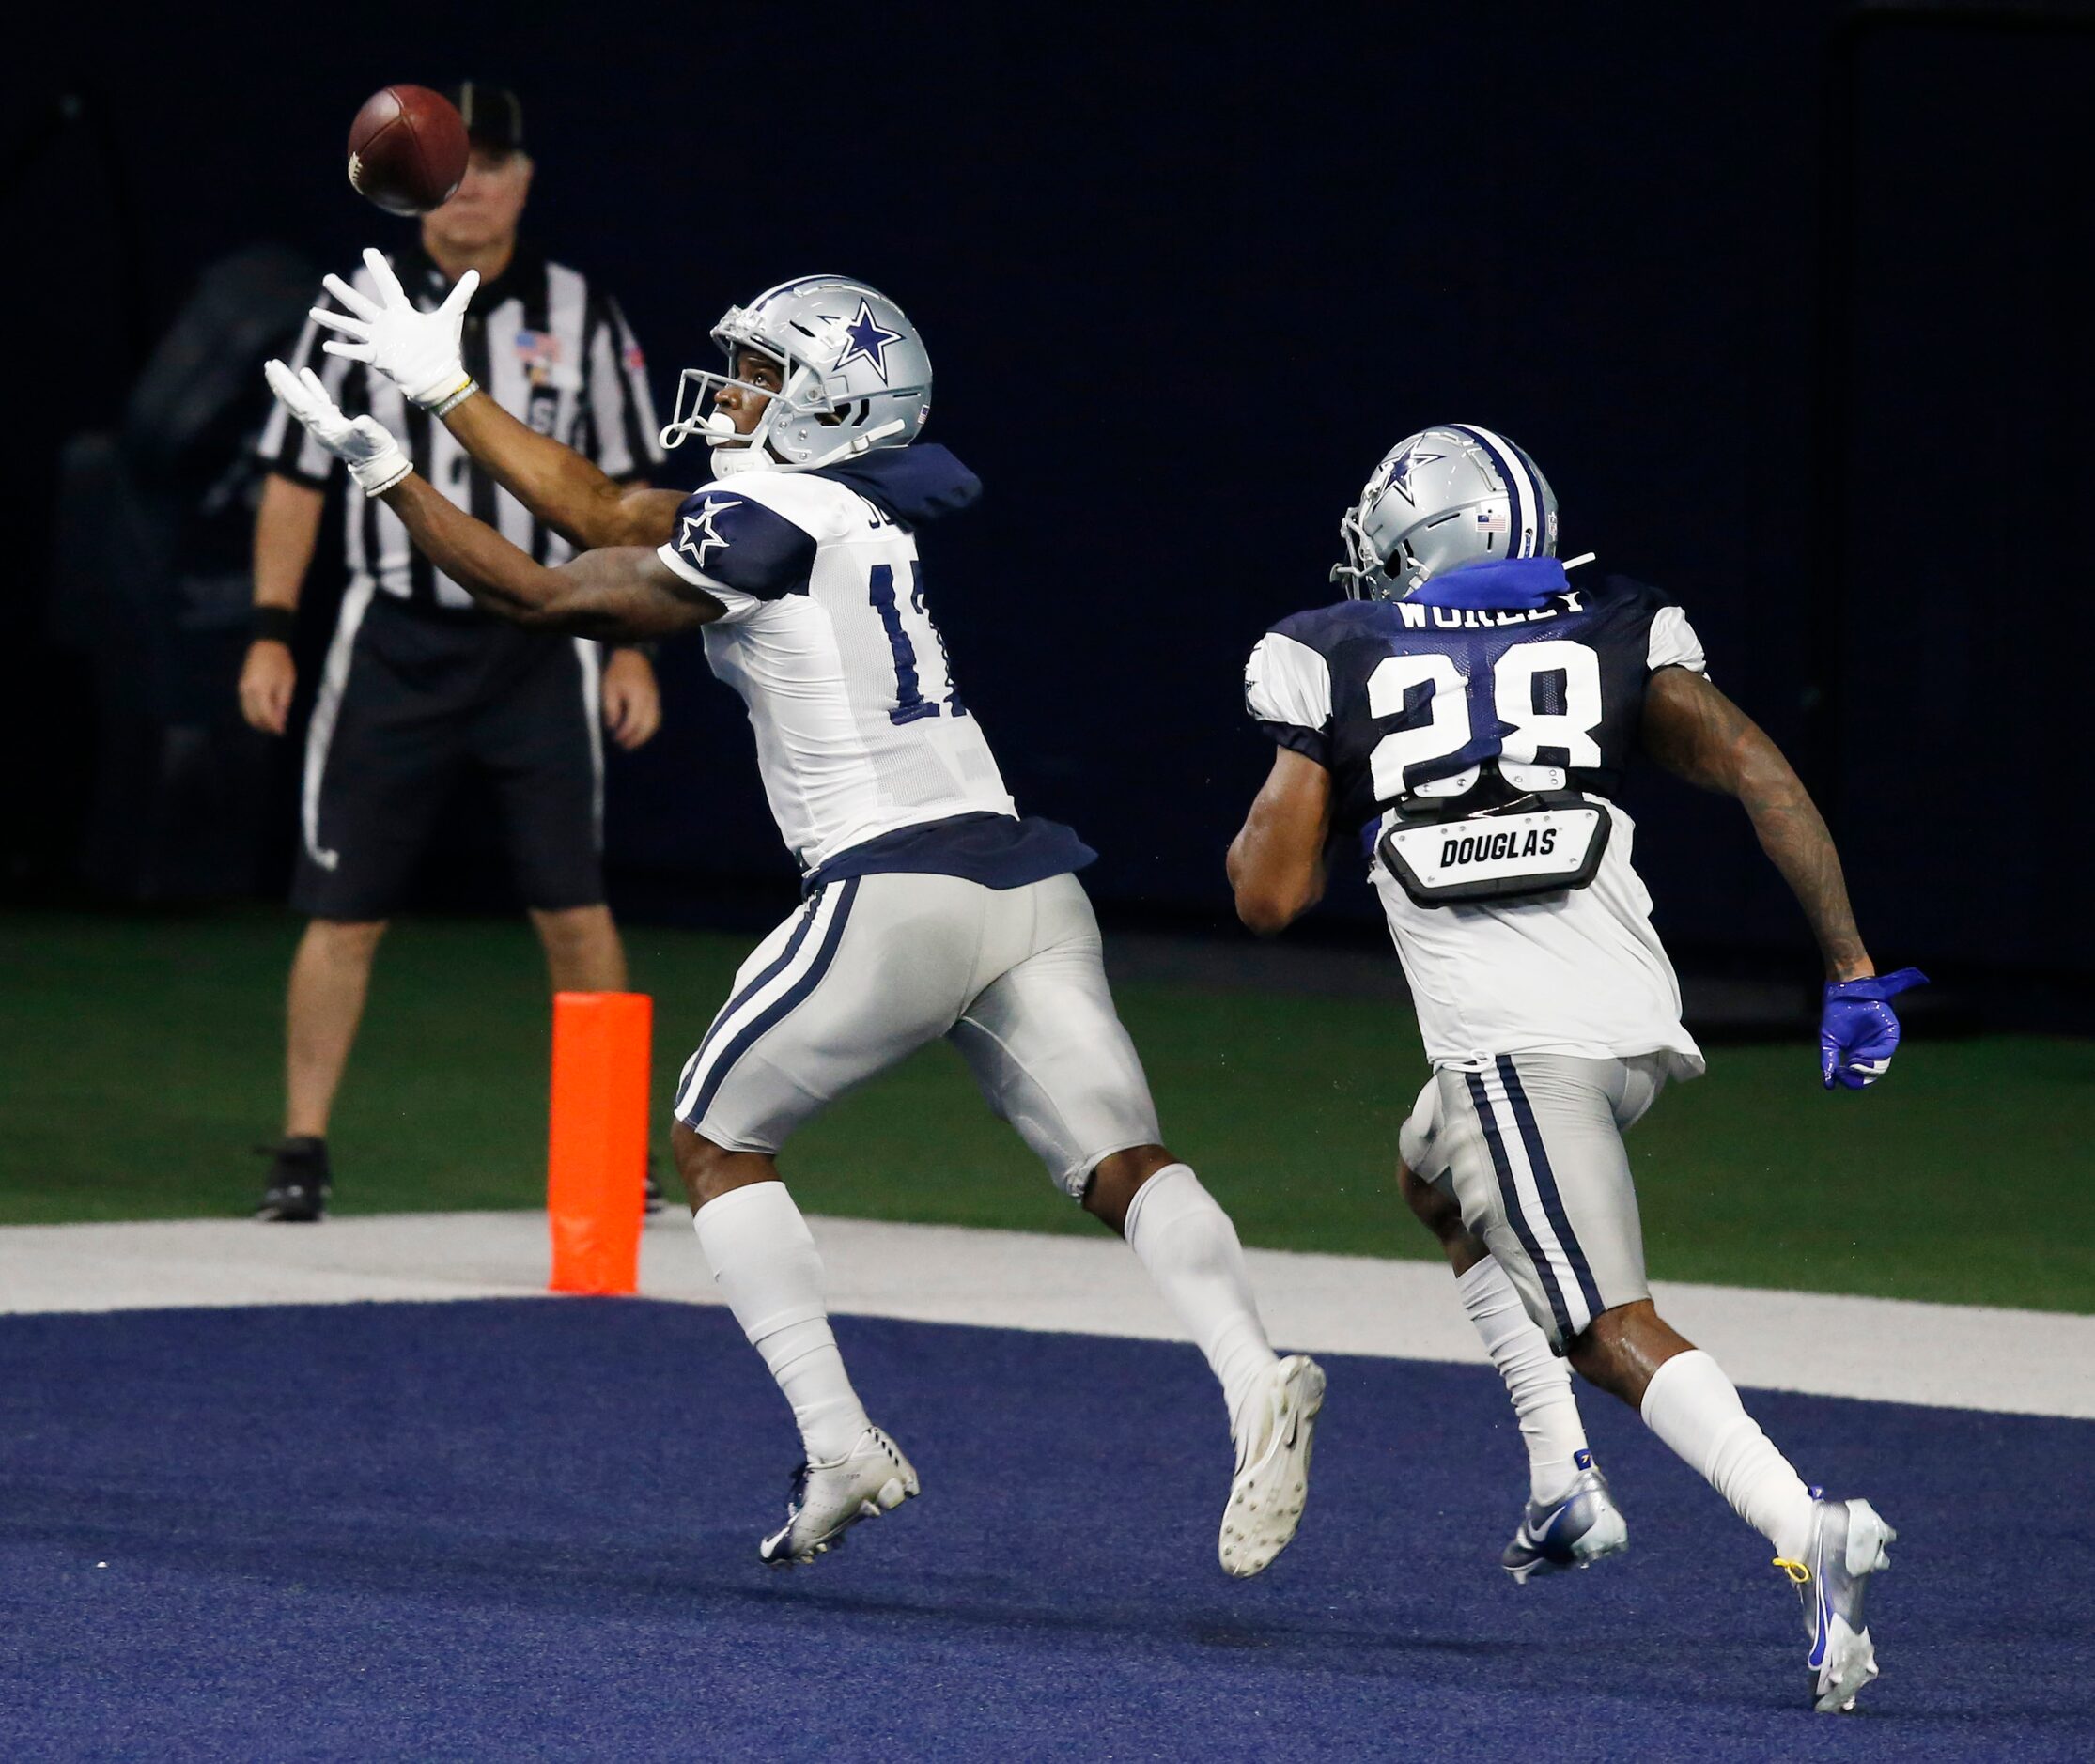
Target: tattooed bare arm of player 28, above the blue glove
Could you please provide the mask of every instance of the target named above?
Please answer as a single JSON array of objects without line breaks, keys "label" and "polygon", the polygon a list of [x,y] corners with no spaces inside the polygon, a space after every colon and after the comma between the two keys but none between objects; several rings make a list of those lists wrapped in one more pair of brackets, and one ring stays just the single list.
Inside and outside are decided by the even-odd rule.
[{"label": "tattooed bare arm of player 28, above the blue glove", "polygon": [[1833,836],[1783,750],[1751,716],[1701,675],[1659,668],[1645,691],[1642,742],[1651,758],[1689,784],[1739,798],[1760,848],[1804,907],[1829,980],[1877,972],[1854,928]]}]

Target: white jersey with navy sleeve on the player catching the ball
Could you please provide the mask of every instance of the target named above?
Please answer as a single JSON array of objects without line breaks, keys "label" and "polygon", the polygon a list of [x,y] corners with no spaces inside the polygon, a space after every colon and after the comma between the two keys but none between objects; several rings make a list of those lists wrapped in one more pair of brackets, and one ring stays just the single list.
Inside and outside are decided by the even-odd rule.
[{"label": "white jersey with navy sleeve on the player catching the ball", "polygon": [[911,530],[972,494],[945,448],[913,446],[834,473],[742,471],[677,511],[658,555],[727,608],[706,660],[748,706],[802,869],[901,828],[1016,813],[953,685]]}]

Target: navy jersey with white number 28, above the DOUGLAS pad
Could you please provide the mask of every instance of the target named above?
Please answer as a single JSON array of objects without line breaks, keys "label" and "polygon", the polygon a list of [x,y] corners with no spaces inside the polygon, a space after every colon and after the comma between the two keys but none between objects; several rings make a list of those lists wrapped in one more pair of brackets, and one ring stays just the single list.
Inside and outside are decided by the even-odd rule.
[{"label": "navy jersey with white number 28, above the DOUGLAS pad", "polygon": [[1420,788],[1454,790],[1485,760],[1521,790],[1613,796],[1663,666],[1703,668],[1686,614],[1603,576],[1538,612],[1299,612],[1251,652],[1244,702],[1280,746],[1332,773],[1335,823],[1353,828]]}]

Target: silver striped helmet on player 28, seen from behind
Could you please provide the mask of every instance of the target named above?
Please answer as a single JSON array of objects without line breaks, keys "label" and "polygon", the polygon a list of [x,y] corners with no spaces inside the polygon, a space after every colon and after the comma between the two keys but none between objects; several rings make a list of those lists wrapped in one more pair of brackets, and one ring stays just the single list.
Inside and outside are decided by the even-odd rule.
[{"label": "silver striped helmet on player 28, seen from behind", "polygon": [[1510,440],[1473,423],[1406,436],[1339,522],[1347,599],[1404,599],[1494,557],[1557,555],[1557,492]]}]

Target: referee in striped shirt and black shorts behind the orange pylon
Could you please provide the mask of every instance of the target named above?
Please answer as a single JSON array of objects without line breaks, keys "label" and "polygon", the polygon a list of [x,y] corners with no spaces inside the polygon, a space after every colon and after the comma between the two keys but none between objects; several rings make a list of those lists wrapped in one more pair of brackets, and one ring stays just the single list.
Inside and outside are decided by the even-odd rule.
[{"label": "referee in striped shirt and black shorts behind the orange pylon", "polygon": [[[618,302],[580,270],[517,239],[530,191],[524,111],[513,92],[465,82],[450,92],[471,138],[459,193],[423,216],[421,243],[392,258],[423,306],[467,270],[480,291],[465,318],[465,367],[503,409],[637,482],[660,465],[639,344]],[[354,279],[371,293],[367,270]],[[448,429],[383,375],[316,350],[306,325],[295,367],[321,373],[348,413],[404,436],[415,467],[453,503],[545,564],[568,543],[467,459]],[[279,404],[262,432],[270,476],[256,515],[253,643],[241,712],[281,735],[295,670],[291,631],[312,564],[333,461]],[[601,729],[637,748],[660,723],[654,668],[639,649],[599,656],[589,641],[501,624],[409,545],[392,509],[348,486],[348,591],[327,649],[300,798],[291,903],[308,913],[291,962],[283,1142],[272,1148],[260,1219],[318,1219],[331,1171],[327,1117],[356,1039],[371,957],[453,790],[494,790],[509,855],[555,991],[622,991],[626,957],[603,903]],[[601,725],[601,729],[599,729]],[[649,1177],[649,1203],[654,1205]]]}]

